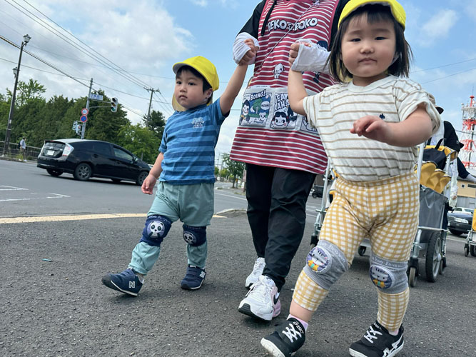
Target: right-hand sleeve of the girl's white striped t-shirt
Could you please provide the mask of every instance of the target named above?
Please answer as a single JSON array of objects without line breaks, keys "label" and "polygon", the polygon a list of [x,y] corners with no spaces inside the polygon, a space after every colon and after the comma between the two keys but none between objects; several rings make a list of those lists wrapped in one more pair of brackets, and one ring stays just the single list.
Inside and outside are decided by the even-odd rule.
[{"label": "right-hand sleeve of the girl's white striped t-shirt", "polygon": [[417,106],[424,104],[432,122],[432,134],[435,134],[440,125],[442,125],[440,114],[420,84],[413,81],[405,81],[405,84],[397,91],[396,103],[400,121],[407,119],[417,109]]}]

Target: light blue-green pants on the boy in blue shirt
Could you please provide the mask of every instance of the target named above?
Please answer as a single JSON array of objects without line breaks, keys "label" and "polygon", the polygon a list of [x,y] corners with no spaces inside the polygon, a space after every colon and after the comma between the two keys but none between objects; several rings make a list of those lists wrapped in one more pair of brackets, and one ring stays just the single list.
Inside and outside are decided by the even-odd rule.
[{"label": "light blue-green pants on the boy in blue shirt", "polygon": [[[193,185],[171,185],[158,181],[156,197],[147,216],[161,215],[172,222],[179,219],[193,227],[209,226],[213,216],[213,183],[197,183]],[[147,275],[156,263],[160,246],[151,246],[146,242],[139,242],[132,251],[129,268]],[[188,265],[205,268],[208,246],[207,242],[201,246],[187,244]]]}]

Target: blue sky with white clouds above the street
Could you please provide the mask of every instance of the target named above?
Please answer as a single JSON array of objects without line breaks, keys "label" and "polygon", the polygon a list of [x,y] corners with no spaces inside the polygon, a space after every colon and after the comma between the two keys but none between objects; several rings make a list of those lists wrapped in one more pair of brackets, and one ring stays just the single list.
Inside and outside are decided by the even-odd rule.
[{"label": "blue sky with white clouds above the street", "polygon": [[[116,96],[136,123],[152,107],[166,117],[173,112],[171,66],[191,56],[206,56],[218,69],[220,89],[236,64],[231,46],[256,0],[0,0],[0,35],[77,79],[74,81],[26,54],[21,81],[36,79],[54,95],[78,98],[93,89]],[[461,104],[475,92],[476,0],[400,1],[407,12],[405,36],[415,61],[410,78],[435,95],[442,118],[462,129]],[[12,69],[19,49],[0,40],[0,93],[14,86]],[[116,70],[111,70],[113,66]],[[252,74],[252,67],[248,75]],[[221,129],[217,151],[229,152],[238,124],[240,96]],[[81,114],[78,114],[78,118]],[[458,133],[460,134],[460,133]],[[73,132],[71,132],[73,135]]]}]

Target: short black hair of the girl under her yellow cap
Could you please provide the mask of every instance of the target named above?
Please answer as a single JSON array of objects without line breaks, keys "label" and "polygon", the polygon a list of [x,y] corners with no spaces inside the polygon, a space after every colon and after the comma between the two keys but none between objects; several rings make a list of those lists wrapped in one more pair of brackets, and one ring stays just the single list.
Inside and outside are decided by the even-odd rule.
[{"label": "short black hair of the girl under her yellow cap", "polygon": [[395,55],[397,59],[393,64],[388,67],[388,74],[394,76],[407,77],[410,72],[410,61],[412,59],[412,49],[405,39],[404,29],[400,25],[395,17],[393,17],[392,11],[389,6],[381,4],[369,4],[361,6],[355,9],[352,14],[347,16],[340,23],[335,39],[330,48],[330,56],[328,57],[330,74],[341,83],[347,78],[352,78],[352,74],[345,68],[342,60],[341,42],[345,31],[347,31],[349,22],[356,16],[367,15],[367,21],[373,24],[377,21],[391,21],[393,22],[393,28],[395,29]]}]

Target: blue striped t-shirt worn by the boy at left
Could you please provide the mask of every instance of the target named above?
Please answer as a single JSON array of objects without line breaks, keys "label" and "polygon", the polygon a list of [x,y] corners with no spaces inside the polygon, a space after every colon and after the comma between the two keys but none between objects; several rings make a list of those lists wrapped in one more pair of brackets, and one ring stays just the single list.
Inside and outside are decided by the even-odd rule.
[{"label": "blue striped t-shirt worn by the boy at left", "polygon": [[159,180],[173,185],[215,182],[215,146],[225,118],[220,99],[209,106],[176,111],[163,130]]}]

